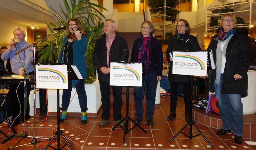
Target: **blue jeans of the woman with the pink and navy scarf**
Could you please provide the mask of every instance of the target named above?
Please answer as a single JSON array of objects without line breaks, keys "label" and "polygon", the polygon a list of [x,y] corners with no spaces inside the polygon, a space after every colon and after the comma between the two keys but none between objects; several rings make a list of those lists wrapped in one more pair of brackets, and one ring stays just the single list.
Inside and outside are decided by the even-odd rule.
[{"label": "blue jeans of the woman with the pink and navy scarf", "polygon": [[146,72],[146,76],[142,76],[142,86],[134,87],[133,96],[135,104],[135,117],[142,120],[143,116],[143,99],[146,89],[146,120],[153,119],[156,102],[157,72]]}]

